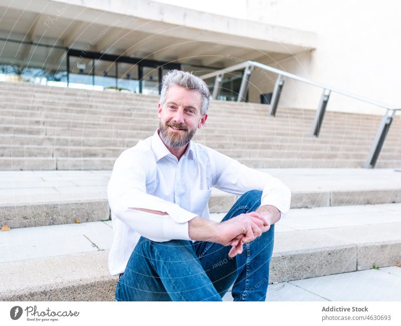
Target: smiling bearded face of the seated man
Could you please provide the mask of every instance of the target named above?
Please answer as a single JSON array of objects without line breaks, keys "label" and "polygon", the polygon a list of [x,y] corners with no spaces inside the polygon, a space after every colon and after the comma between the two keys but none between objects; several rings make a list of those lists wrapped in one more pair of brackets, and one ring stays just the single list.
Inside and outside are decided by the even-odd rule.
[{"label": "smiling bearded face of the seated man", "polygon": [[164,104],[159,103],[160,136],[168,147],[185,146],[194,136],[196,128],[202,128],[208,117],[200,115],[202,94],[177,85],[170,86]]}]

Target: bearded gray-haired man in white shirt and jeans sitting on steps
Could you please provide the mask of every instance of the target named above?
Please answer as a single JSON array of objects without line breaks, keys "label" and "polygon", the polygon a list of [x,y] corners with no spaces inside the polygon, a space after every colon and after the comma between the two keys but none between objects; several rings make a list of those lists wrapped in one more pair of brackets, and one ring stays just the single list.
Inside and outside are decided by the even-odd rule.
[{"label": "bearded gray-haired man in white shirt and jeans sitting on steps", "polygon": [[[266,299],[274,223],[288,212],[291,193],[191,141],[208,118],[209,95],[202,79],[167,73],[159,128],[114,164],[109,270],[120,275],[118,301],[221,301],[231,286],[236,301]],[[241,196],[220,223],[209,219],[212,187]]]}]

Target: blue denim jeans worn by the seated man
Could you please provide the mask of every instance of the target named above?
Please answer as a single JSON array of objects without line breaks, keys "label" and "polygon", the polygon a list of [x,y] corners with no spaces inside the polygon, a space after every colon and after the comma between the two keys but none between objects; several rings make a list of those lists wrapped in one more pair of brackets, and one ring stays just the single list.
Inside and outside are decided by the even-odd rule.
[{"label": "blue denim jeans worn by the seated man", "polygon": [[[255,211],[262,192],[238,199],[223,221]],[[273,253],[274,225],[229,258],[231,246],[206,241],[154,242],[141,237],[116,286],[117,301],[264,301]]]}]

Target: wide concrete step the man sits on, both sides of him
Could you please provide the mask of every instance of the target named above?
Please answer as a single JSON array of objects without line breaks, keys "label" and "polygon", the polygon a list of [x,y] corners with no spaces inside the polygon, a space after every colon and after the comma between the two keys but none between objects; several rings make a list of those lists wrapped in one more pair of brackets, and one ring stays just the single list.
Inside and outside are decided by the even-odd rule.
[{"label": "wide concrete step the man sits on, both sides of him", "polygon": [[[394,266],[401,258],[400,205],[291,210],[275,227],[270,283]],[[114,300],[111,221],[11,229],[0,240],[0,272],[7,275],[1,300]]]}]

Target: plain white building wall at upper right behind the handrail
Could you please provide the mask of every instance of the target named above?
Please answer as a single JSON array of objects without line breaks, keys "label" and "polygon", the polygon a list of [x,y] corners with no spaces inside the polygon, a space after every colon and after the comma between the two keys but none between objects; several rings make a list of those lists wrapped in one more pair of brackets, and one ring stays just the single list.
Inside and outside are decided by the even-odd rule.
[{"label": "plain white building wall at upper right behind the handrail", "polygon": [[[377,1],[251,1],[248,18],[319,35],[317,50],[273,66],[389,105],[401,106],[401,3]],[[264,13],[264,14],[261,14]],[[266,14],[269,13],[269,14]],[[267,58],[262,58],[268,62]],[[288,106],[315,108],[321,91],[286,82]],[[383,114],[384,109],[332,95],[328,110]]]}]

